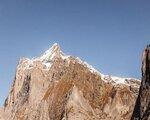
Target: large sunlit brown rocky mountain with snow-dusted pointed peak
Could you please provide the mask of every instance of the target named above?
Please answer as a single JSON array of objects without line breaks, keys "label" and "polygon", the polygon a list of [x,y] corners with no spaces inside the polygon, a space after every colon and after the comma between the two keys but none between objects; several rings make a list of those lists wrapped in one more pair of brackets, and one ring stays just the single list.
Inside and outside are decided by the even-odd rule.
[{"label": "large sunlit brown rocky mountain with snow-dusted pointed peak", "polygon": [[54,44],[40,57],[22,58],[3,120],[129,120],[140,80],[104,75]]}]

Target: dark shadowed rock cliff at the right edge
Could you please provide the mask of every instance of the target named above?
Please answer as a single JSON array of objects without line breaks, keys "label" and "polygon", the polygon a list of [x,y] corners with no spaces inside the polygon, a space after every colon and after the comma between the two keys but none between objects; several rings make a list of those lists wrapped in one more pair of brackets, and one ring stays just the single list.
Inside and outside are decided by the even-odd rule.
[{"label": "dark shadowed rock cliff at the right edge", "polygon": [[150,45],[142,56],[142,82],[132,120],[150,120]]}]

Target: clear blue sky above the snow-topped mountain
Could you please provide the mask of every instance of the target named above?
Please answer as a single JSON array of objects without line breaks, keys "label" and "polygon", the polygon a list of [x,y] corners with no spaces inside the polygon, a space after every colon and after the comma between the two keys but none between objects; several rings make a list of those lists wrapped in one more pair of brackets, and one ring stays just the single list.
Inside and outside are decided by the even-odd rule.
[{"label": "clear blue sky above the snow-topped mountain", "polygon": [[149,0],[0,0],[0,105],[20,57],[57,42],[105,74],[140,78]]}]

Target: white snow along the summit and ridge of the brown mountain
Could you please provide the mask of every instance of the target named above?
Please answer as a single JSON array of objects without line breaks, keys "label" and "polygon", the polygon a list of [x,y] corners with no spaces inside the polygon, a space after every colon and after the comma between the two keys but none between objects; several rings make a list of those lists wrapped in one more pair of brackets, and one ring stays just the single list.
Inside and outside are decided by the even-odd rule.
[{"label": "white snow along the summit and ridge of the brown mountain", "polygon": [[[24,69],[31,69],[34,66],[34,63],[37,61],[41,61],[44,66],[46,66],[46,69],[49,70],[53,64],[53,58],[54,57],[61,57],[63,60],[67,59],[68,62],[70,62],[70,55],[65,55],[59,45],[55,43],[50,49],[46,50],[43,55],[37,58],[32,58],[28,59],[25,58],[23,60],[24,62]],[[75,57],[78,63],[84,65],[89,69],[91,73],[97,74],[101,76],[101,79],[105,82],[113,82],[115,84],[128,84],[126,80],[138,80],[135,78],[121,78],[121,77],[116,77],[116,76],[111,76],[111,75],[104,75],[100,73],[98,70],[96,70],[92,65],[89,65],[87,62],[82,61],[79,57]],[[140,80],[138,80],[140,81]]]}]

